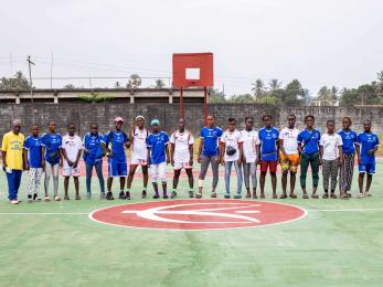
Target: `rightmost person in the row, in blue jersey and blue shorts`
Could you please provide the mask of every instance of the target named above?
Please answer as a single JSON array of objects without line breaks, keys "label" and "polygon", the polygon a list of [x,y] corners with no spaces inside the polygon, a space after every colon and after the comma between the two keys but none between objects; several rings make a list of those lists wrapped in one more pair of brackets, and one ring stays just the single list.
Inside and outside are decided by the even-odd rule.
[{"label": "rightmost person in the row, in blue jersey and blue shorts", "polygon": [[[364,131],[358,135],[357,153],[359,163],[359,195],[358,198],[371,196],[370,187],[372,174],[375,173],[375,152],[379,148],[379,137],[371,131],[371,120],[364,120]],[[363,193],[364,174],[368,173],[365,191]]]}]

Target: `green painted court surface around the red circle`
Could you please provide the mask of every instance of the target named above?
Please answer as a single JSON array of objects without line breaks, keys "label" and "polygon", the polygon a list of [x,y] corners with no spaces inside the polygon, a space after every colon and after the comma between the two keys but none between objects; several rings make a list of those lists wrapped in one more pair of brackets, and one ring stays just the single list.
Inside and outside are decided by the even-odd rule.
[{"label": "green painted court surface around the red circle", "polygon": [[[92,200],[26,203],[24,176],[23,202],[11,205],[1,172],[0,286],[382,286],[382,174],[380,161],[369,199],[276,200],[307,210],[295,222],[159,231],[91,221],[94,210],[128,203],[98,200],[96,179]],[[219,184],[222,198],[223,178]],[[269,178],[267,184],[272,201]],[[142,201],[140,180],[134,187],[131,202]],[[183,178],[179,198],[187,198],[185,187]],[[85,179],[81,190],[85,198]]]}]

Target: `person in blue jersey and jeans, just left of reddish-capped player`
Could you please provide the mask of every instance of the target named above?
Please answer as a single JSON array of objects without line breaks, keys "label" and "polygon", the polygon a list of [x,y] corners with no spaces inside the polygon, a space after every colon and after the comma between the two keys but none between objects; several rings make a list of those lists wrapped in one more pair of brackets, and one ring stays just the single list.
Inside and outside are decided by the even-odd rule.
[{"label": "person in blue jersey and jeans, just left of reddish-capped player", "polygon": [[91,180],[92,180],[92,171],[93,168],[96,169],[98,182],[99,182],[99,198],[105,199],[105,184],[104,184],[104,176],[103,176],[103,135],[98,134],[98,125],[92,124],[91,132],[87,132],[84,137],[84,161],[86,167],[86,198],[91,199]]}]

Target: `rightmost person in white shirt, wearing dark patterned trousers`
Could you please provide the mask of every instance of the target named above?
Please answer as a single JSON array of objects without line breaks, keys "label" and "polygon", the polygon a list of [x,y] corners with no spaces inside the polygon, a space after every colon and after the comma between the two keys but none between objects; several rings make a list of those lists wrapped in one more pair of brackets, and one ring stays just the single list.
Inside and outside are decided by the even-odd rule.
[{"label": "rightmost person in white shirt, wearing dark patterned trousers", "polygon": [[336,188],[338,181],[338,169],[343,162],[342,138],[336,134],[336,123],[330,119],[327,121],[327,132],[321,136],[319,141],[319,153],[322,159],[323,173],[323,199],[329,198],[329,180],[331,178],[331,199],[337,199]]}]

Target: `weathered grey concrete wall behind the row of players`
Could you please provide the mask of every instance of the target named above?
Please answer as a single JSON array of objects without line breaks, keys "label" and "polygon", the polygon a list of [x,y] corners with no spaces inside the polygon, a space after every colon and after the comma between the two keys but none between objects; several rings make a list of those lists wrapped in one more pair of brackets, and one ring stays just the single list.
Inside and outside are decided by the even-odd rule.
[{"label": "weathered grey concrete wall behind the row of players", "polygon": [[[92,123],[98,123],[102,132],[108,130],[113,125],[115,116],[123,116],[126,123],[131,123],[137,115],[143,115],[148,120],[158,118],[162,127],[169,132],[177,127],[178,121],[178,104],[129,104],[129,103],[60,103],[60,104],[40,104],[35,103],[34,114],[35,121],[42,126],[42,130],[46,130],[50,119],[55,119],[60,131],[65,132],[66,125],[71,121],[75,123],[79,130],[79,135],[84,135]],[[257,104],[211,104],[210,113],[215,114],[217,124],[225,126],[227,117],[237,118],[240,126],[244,126],[244,118],[253,116],[255,126],[262,127],[262,116],[272,114],[275,126],[280,128],[285,126],[286,117],[289,113],[297,116],[298,127],[304,126],[304,117],[312,114],[316,117],[316,125],[320,130],[325,130],[326,121],[334,119],[337,128],[340,128],[341,118],[349,116],[353,120],[353,128],[358,131],[362,128],[363,119],[373,121],[375,132],[383,132],[383,107],[279,107],[272,105]],[[0,137],[10,128],[13,118],[21,118],[23,124],[23,132],[29,132],[32,124],[32,113],[30,104],[0,104]],[[203,104],[188,103],[185,104],[185,119],[188,128],[193,132],[198,132],[204,125]],[[125,125],[128,129],[128,124]]]}]

